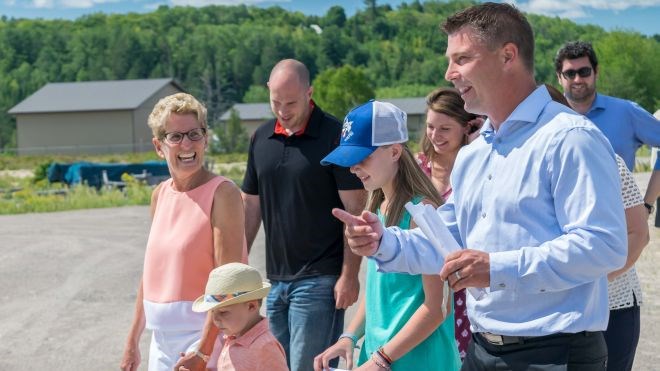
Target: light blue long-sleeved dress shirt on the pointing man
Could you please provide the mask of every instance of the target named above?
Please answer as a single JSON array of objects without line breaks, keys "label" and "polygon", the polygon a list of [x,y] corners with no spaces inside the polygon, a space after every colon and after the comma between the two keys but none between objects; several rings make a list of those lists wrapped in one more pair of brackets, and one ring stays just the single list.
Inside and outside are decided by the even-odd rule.
[{"label": "light blue long-sleeved dress shirt on the pointing man", "polygon": [[[593,123],[544,86],[458,154],[438,213],[459,245],[490,256],[490,292],[468,295],[473,330],[510,336],[605,330],[607,272],[626,261],[619,172]],[[381,271],[432,274],[444,264],[419,228],[388,228]]]}]

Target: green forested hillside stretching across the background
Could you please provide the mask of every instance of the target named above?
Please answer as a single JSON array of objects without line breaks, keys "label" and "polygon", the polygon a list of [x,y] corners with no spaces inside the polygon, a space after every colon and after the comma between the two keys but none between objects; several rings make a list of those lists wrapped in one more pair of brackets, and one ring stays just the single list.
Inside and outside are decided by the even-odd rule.
[{"label": "green forested hillside stretching across the background", "polygon": [[[415,1],[393,9],[367,0],[352,17],[338,6],[320,17],[248,6],[162,6],[74,21],[2,17],[0,149],[15,142],[7,110],[48,82],[174,77],[207,104],[211,122],[234,102],[263,98],[268,73],[282,58],[303,61],[312,77],[355,67],[377,95],[423,94],[446,84],[446,36],[439,25],[473,3]],[[552,57],[563,42],[588,40],[601,61],[600,91],[650,111],[660,105],[659,35],[529,18],[539,82],[556,84]]]}]

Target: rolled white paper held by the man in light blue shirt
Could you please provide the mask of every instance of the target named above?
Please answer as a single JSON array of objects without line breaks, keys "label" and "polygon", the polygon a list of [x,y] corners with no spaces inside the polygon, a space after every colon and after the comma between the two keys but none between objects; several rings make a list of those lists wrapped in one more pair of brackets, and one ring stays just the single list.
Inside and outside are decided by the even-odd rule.
[{"label": "rolled white paper held by the man in light blue shirt", "polygon": [[[408,202],[405,207],[415,220],[415,224],[424,232],[429,242],[443,258],[446,259],[451,252],[461,250],[432,205],[425,205],[421,202],[414,205],[412,202]],[[475,300],[481,300],[486,295],[486,289],[483,287],[468,287],[467,291]]]}]

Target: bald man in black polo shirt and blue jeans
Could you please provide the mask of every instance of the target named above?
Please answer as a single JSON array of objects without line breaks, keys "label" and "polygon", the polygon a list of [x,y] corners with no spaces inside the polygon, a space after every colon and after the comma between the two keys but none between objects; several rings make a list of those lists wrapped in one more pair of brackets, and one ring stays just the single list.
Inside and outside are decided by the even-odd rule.
[{"label": "bald man in black polo shirt and blue jeans", "polygon": [[366,192],[347,168],[320,161],[338,144],[341,124],[312,101],[309,71],[285,59],[271,71],[276,119],[254,133],[243,180],[248,246],[261,220],[266,232],[270,328],[292,371],[312,370],[314,356],[337,341],[344,309],[359,293],[360,258],[344,246],[332,208],[359,214]]}]

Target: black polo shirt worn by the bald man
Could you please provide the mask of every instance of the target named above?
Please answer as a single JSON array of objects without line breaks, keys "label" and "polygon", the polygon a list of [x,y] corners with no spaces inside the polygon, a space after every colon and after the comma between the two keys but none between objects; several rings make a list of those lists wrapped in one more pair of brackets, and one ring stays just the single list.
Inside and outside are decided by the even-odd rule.
[{"label": "black polo shirt worn by the bald man", "polygon": [[304,133],[287,137],[274,129],[273,119],[252,136],[242,186],[259,195],[267,277],[339,275],[343,225],[331,210],[343,208],[338,190],[363,188],[348,168],[320,164],[339,144],[341,123],[315,106]]}]

